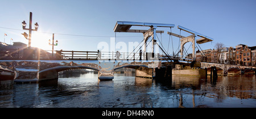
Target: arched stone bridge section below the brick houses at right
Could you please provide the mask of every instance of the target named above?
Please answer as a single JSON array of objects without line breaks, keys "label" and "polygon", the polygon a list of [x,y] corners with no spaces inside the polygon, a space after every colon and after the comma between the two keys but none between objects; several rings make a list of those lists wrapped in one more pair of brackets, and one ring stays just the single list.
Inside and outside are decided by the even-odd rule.
[{"label": "arched stone bridge section below the brick houses at right", "polygon": [[[256,74],[256,67],[255,66],[240,66],[240,65],[229,65],[229,64],[224,64],[224,63],[209,63],[209,62],[201,62],[201,68],[209,69],[212,66],[217,67],[217,69],[221,69],[222,73],[221,74],[228,74],[228,71],[231,69],[236,69],[240,71],[240,74],[245,74],[246,71],[248,70],[253,70],[254,73]],[[218,71],[219,72],[219,71]]]}]

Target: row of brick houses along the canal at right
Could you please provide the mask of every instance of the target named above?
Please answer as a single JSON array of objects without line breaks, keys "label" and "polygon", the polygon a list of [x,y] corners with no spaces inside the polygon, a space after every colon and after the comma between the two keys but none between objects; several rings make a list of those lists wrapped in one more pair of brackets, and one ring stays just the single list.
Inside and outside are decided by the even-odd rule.
[{"label": "row of brick houses along the canal at right", "polygon": [[220,53],[218,53],[217,49],[198,50],[196,52],[196,61],[256,66],[256,46],[239,44],[234,48],[222,48]]}]

